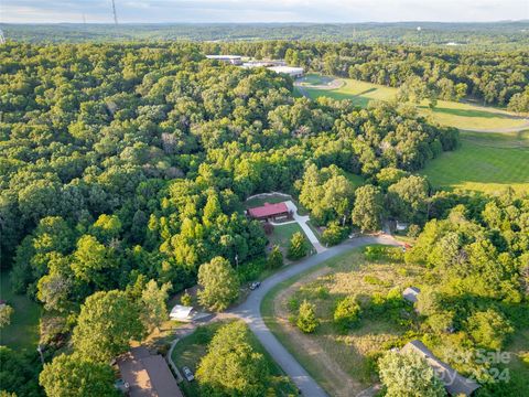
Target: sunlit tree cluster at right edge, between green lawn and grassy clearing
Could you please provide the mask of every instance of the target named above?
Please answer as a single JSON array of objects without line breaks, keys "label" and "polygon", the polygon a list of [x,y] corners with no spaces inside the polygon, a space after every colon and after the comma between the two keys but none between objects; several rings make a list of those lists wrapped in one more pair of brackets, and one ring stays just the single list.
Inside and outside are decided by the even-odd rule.
[{"label": "sunlit tree cluster at right edge, between green lawn and grassy clearing", "polygon": [[[460,195],[453,205],[406,253],[407,262],[429,269],[418,301],[423,340],[484,384],[479,395],[515,396],[527,379],[484,352],[506,350],[529,326],[529,197],[509,190],[488,198]],[[527,353],[518,358],[527,363]]]}]

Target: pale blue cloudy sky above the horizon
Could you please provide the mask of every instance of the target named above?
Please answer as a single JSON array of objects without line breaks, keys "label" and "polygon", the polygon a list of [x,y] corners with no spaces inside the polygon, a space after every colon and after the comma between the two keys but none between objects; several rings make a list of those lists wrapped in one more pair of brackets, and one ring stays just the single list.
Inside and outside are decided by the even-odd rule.
[{"label": "pale blue cloudy sky above the horizon", "polygon": [[[115,0],[121,22],[529,19],[529,0]],[[111,22],[111,0],[0,0],[0,22]]]}]

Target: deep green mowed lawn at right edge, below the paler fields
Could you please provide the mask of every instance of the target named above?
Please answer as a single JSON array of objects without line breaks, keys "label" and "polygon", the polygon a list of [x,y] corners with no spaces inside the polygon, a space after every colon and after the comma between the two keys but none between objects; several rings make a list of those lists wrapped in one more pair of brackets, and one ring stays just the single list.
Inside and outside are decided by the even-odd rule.
[{"label": "deep green mowed lawn at right edge, below the paler fields", "polygon": [[421,174],[436,187],[486,193],[507,186],[529,192],[529,133],[462,132],[461,147],[427,164]]}]

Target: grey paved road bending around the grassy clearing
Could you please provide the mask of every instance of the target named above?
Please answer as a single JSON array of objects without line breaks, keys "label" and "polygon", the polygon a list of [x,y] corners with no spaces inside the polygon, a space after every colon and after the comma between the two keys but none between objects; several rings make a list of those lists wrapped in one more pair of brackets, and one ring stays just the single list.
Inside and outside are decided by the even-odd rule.
[{"label": "grey paved road bending around the grassy clearing", "polygon": [[292,265],[287,269],[267,278],[264,281],[262,281],[261,287],[252,291],[244,303],[228,311],[229,314],[244,320],[248,324],[264,348],[290,376],[304,396],[323,397],[327,396],[327,394],[267,328],[260,311],[262,299],[267,292],[269,292],[278,283],[285,281],[305,270],[309,270],[321,262],[335,257],[336,255],[369,244],[399,245],[399,243],[397,243],[391,236],[360,237],[348,240],[339,246],[328,248],[321,254],[314,255],[296,265]]}]

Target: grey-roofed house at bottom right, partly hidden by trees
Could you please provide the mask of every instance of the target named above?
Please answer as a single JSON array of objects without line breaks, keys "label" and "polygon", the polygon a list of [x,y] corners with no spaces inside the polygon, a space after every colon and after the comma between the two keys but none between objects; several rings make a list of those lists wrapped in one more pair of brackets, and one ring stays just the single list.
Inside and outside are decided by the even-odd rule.
[{"label": "grey-roofed house at bottom right, partly hidden by trees", "polygon": [[428,365],[432,367],[438,377],[444,384],[444,388],[451,396],[471,396],[479,385],[457,373],[449,364],[438,360],[433,353],[418,340],[411,341],[401,348],[401,353],[419,354]]}]

